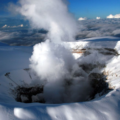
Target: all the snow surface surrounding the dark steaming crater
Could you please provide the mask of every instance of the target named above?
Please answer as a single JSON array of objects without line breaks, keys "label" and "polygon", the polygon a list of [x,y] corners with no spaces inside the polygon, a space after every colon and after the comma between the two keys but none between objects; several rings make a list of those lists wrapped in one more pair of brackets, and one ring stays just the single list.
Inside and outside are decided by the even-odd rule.
[{"label": "all the snow surface surrounding the dark steaming crater", "polygon": [[[95,38],[87,41],[69,42],[72,49],[115,48],[120,54],[119,39]],[[89,102],[69,104],[40,104],[16,102],[11,89],[17,84],[29,84],[29,74],[23,70],[29,67],[29,58],[32,47],[0,46],[0,119],[1,120],[119,120],[120,119],[120,56],[107,56],[92,54],[92,59],[85,59],[82,54],[73,53],[80,62],[91,63],[99,61],[105,63],[103,70],[107,75],[107,81],[114,88],[107,95]],[[5,74],[10,72],[13,81]],[[32,76],[34,77],[34,75]]]}]

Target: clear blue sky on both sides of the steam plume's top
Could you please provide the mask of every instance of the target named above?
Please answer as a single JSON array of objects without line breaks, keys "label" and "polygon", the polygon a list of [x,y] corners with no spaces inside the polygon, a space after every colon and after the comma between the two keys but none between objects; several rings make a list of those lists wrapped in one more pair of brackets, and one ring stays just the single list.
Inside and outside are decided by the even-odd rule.
[{"label": "clear blue sky on both sides of the steam plume's top", "polygon": [[[5,8],[9,2],[15,3],[17,0],[0,1],[0,16],[7,16]],[[110,14],[120,13],[120,0],[68,0],[69,10],[74,13],[76,18],[106,18]]]}]

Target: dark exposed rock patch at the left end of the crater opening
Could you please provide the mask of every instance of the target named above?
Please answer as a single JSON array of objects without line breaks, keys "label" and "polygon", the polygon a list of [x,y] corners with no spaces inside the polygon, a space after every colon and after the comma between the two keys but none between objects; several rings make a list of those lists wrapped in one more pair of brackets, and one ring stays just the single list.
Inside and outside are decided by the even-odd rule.
[{"label": "dark exposed rock patch at the left end of the crater opening", "polygon": [[[15,99],[17,102],[31,103],[31,102],[40,102],[45,103],[44,98],[42,97],[43,86],[34,86],[34,87],[21,87],[18,86],[14,89]],[[39,94],[39,98],[38,98]]]}]

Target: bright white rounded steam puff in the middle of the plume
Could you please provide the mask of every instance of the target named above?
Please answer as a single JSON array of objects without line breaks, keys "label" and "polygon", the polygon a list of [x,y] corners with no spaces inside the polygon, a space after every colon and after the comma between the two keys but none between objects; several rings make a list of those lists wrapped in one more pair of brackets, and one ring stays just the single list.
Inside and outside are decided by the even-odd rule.
[{"label": "bright white rounded steam puff in the middle of the plume", "polygon": [[48,81],[56,81],[68,76],[76,63],[69,49],[50,41],[35,45],[30,61],[30,67],[37,75]]}]

